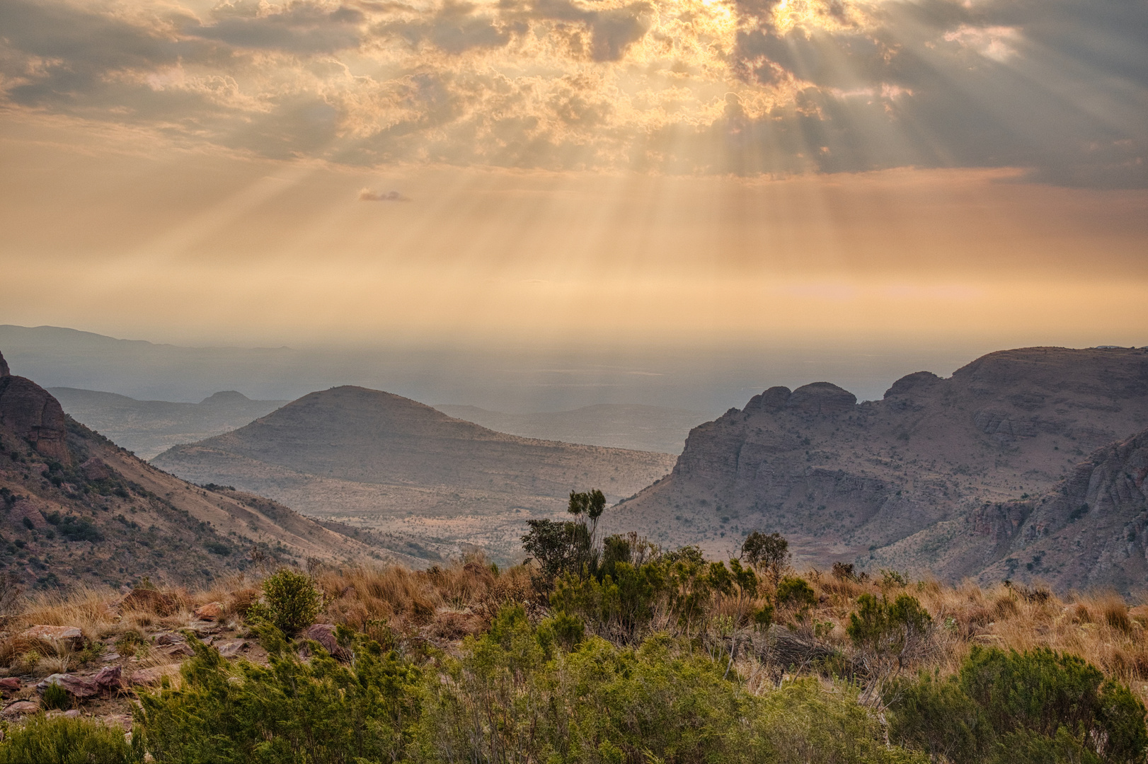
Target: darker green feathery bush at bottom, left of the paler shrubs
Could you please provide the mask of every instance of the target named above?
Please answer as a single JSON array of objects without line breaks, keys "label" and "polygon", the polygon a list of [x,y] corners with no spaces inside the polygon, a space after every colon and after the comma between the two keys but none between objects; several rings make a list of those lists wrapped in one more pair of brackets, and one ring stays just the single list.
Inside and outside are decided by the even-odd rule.
[{"label": "darker green feathery bush at bottom, left of the paler shrubs", "polygon": [[419,671],[378,642],[348,636],[350,666],[317,650],[302,661],[274,627],[261,639],[270,665],[232,664],[192,641],[179,689],[145,693],[141,746],[157,762],[351,764],[403,757],[418,722]]}]

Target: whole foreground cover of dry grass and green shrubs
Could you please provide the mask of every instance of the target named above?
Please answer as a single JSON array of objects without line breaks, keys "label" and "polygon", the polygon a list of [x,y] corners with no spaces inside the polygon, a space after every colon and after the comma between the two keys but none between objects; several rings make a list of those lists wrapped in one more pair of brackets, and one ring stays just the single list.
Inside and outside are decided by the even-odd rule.
[{"label": "whole foreground cover of dry grass and green shrubs", "polygon": [[[1001,584],[945,586],[838,564],[790,569],[596,538],[602,502],[533,522],[530,560],[425,571],[281,570],[116,606],[39,595],[9,618],[77,625],[87,654],[9,637],[47,673],[100,645],[163,661],[146,634],[219,602],[258,639],[238,660],[194,638],[158,688],[126,692],[130,740],[91,718],[13,723],[0,762],[1143,762],[1148,609]],[[335,624],[326,648],[305,638]],[[78,703],[82,711],[83,703]]]}]

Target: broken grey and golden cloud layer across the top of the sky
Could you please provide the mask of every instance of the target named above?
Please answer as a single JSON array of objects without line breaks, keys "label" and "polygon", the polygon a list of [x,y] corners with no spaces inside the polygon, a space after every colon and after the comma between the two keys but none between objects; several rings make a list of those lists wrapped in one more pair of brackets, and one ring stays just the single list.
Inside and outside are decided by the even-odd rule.
[{"label": "broken grey and golden cloud layer across the top of the sky", "polygon": [[1148,187],[1148,5],[0,3],[0,102],[270,157]]}]

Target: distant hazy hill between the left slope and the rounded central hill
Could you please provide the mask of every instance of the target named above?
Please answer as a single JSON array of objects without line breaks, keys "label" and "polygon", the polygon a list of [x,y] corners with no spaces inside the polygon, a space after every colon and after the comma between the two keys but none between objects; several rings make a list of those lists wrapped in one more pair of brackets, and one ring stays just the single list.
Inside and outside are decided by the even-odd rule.
[{"label": "distant hazy hill between the left slope and the rounded central hill", "polygon": [[241,392],[216,392],[200,403],[137,400],[115,392],[48,388],[77,421],[150,459],[179,443],[220,435],[269,414],[286,400],[251,400]]}]

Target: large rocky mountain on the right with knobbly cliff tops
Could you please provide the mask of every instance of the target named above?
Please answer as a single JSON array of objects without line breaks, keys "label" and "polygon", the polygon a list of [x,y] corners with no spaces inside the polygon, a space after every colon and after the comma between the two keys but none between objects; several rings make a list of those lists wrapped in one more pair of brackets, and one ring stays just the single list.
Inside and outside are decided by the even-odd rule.
[{"label": "large rocky mountain on the right with knobbly cliff tops", "polygon": [[1000,351],[861,404],[828,382],[770,388],[695,428],[669,477],[607,517],[713,553],[765,528],[802,562],[925,570],[945,543],[924,533],[934,544],[910,553],[905,539],[1040,496],[1146,426],[1146,349]]}]

